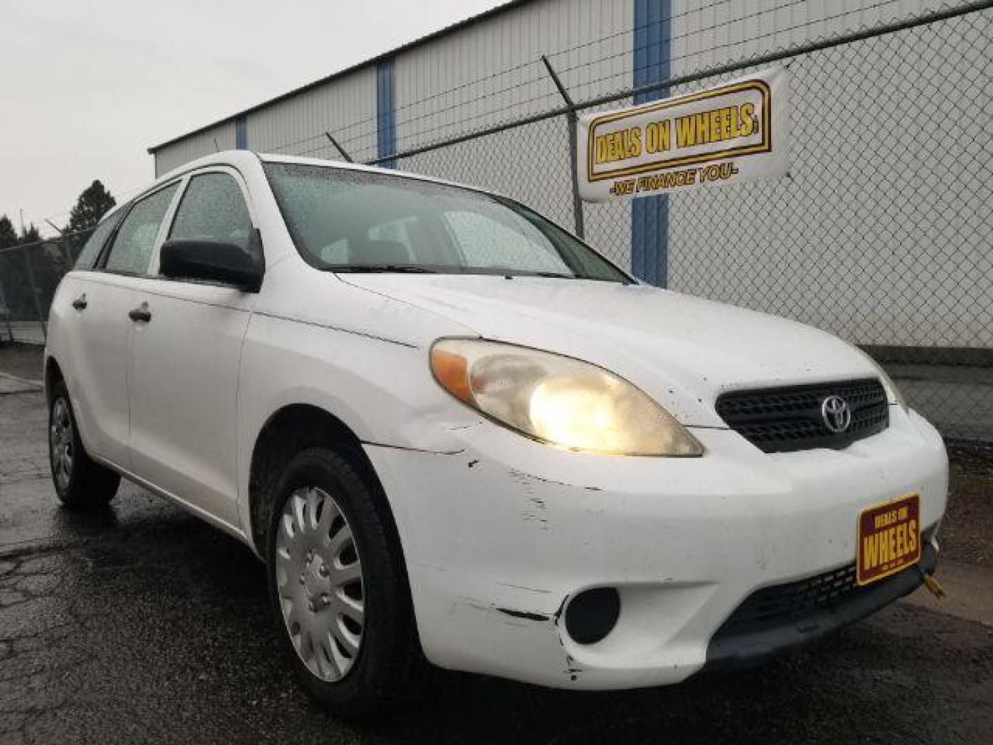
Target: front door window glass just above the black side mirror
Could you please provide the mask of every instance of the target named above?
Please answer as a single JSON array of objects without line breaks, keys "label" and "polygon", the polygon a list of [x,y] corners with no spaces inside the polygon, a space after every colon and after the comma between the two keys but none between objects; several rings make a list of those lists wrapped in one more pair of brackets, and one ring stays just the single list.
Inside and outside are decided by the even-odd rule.
[{"label": "front door window glass just above the black side mirror", "polygon": [[206,173],[190,179],[171,238],[211,238],[248,247],[251,217],[241,188],[226,173]]}]

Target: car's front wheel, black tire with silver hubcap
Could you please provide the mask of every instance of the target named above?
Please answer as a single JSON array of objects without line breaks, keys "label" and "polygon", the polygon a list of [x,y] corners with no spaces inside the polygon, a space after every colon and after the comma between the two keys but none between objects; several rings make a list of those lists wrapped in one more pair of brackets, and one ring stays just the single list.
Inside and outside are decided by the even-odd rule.
[{"label": "car's front wheel, black tire with silver hubcap", "polygon": [[385,498],[323,447],[298,453],[272,482],[269,597],[303,687],[348,718],[410,698],[424,663]]}]

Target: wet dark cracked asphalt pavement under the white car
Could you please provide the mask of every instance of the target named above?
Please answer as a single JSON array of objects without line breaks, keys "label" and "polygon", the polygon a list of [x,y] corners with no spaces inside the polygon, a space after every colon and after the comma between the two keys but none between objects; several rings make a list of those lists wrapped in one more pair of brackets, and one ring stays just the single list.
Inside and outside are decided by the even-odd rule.
[{"label": "wet dark cracked asphalt pavement under the white car", "polygon": [[439,671],[403,710],[337,720],[279,657],[247,548],[130,485],[107,511],[61,509],[44,432],[42,394],[0,378],[3,743],[993,739],[993,619],[921,598],[752,671],[623,693]]}]

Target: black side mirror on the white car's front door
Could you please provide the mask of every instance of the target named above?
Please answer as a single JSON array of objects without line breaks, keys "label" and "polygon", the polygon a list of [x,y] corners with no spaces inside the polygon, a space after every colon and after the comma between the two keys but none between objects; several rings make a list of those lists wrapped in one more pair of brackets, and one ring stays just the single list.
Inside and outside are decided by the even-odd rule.
[{"label": "black side mirror on the white car's front door", "polygon": [[171,238],[159,252],[159,273],[171,279],[229,284],[244,292],[258,292],[265,274],[258,230],[248,248],[212,238]]}]

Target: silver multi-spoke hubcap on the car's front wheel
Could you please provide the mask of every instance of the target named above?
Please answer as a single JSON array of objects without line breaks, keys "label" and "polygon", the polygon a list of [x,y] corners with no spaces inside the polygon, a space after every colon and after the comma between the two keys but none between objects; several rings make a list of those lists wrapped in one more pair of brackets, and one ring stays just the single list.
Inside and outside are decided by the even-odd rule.
[{"label": "silver multi-spoke hubcap on the car's front wheel", "polygon": [[302,487],[286,501],[276,535],[276,585],[300,660],[322,680],[341,680],[361,649],[364,587],[352,527],[322,489]]}]

